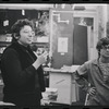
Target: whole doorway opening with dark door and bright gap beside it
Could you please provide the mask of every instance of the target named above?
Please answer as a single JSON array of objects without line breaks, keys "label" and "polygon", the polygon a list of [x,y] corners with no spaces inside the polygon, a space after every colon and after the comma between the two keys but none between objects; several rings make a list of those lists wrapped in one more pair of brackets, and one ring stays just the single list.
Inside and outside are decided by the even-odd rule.
[{"label": "whole doorway opening with dark door and bright gap beside it", "polygon": [[[81,51],[77,51],[74,49],[74,56],[75,56],[74,62],[73,62],[74,64],[77,64],[77,63],[82,64],[85,61],[94,59],[96,57],[95,41],[96,41],[97,36],[95,37],[95,34],[94,34],[96,29],[94,20],[95,19],[93,16],[88,17],[88,15],[87,17],[86,16],[74,16],[74,36],[73,37],[75,40],[73,40],[73,43],[74,43],[74,46],[78,45],[81,49]],[[76,41],[78,43],[75,44]],[[76,59],[76,55],[78,55],[77,52],[80,53],[78,58],[80,59],[83,58],[82,60],[78,60],[78,58]],[[76,60],[77,62],[75,62]]]}]

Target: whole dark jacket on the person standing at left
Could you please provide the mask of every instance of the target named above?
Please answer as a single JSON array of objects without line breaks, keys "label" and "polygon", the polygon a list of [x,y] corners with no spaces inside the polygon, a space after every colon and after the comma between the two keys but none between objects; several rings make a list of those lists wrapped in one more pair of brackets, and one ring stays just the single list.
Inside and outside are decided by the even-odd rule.
[{"label": "whole dark jacket on the person standing at left", "polygon": [[38,70],[32,65],[36,59],[29,47],[19,43],[13,43],[4,50],[1,57],[4,101],[25,106],[39,101],[45,82],[41,65]]}]

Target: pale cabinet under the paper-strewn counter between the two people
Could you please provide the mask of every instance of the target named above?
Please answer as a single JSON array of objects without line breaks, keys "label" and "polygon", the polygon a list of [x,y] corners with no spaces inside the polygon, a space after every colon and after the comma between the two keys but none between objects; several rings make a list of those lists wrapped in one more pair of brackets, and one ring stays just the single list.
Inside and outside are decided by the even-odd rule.
[{"label": "pale cabinet under the paper-strewn counter between the two people", "polygon": [[49,72],[49,87],[58,89],[58,104],[72,105],[78,101],[78,87],[72,73],[61,70],[51,70]]}]

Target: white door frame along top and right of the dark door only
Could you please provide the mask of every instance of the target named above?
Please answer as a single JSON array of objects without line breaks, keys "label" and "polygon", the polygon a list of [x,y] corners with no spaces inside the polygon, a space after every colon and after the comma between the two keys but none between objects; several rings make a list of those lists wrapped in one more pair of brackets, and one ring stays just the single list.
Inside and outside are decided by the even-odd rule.
[{"label": "white door frame along top and right of the dark door only", "polygon": [[[87,35],[87,44],[88,44],[88,60],[97,58],[98,53],[96,50],[96,44],[98,41],[98,15],[96,11],[74,11],[73,17],[92,17],[94,19],[94,45],[90,48],[90,35]],[[92,55],[92,56],[89,56]]]}]

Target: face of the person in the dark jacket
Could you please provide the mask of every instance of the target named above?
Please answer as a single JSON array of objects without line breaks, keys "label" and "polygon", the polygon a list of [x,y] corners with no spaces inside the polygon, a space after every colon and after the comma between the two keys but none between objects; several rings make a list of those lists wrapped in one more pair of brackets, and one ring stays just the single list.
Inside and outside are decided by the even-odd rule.
[{"label": "face of the person in the dark jacket", "polygon": [[28,46],[33,41],[34,32],[29,25],[25,25],[20,31],[20,38],[19,43],[21,43],[24,46]]}]

